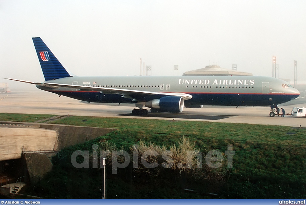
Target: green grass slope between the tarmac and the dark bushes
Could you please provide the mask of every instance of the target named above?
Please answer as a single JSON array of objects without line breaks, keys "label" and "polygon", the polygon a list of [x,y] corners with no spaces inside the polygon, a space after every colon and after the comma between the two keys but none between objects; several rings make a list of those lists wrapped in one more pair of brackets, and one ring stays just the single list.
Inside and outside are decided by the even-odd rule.
[{"label": "green grass slope between the tarmac and the dark bushes", "polygon": [[[36,121],[42,115],[22,115],[0,113],[0,121]],[[50,116],[49,116],[50,117]],[[197,149],[205,152],[207,146],[225,153],[227,145],[233,145],[233,169],[227,184],[215,188],[219,198],[306,198],[306,129],[290,128],[285,126],[255,125],[255,124],[231,124],[201,121],[172,121],[151,119],[127,119],[127,118],[103,118],[103,117],[79,117],[71,116],[52,123],[71,124],[78,126],[93,126],[105,128],[118,128],[118,131],[109,133],[101,138],[89,141],[83,145],[76,145],[62,150],[71,154],[73,150],[90,150],[91,145],[102,140],[114,143],[117,147],[130,150],[133,144],[143,140],[164,144],[168,148],[173,144],[178,145],[184,135],[194,142]],[[225,169],[226,167],[224,167]],[[70,173],[70,174],[69,174]],[[72,174],[73,173],[73,174]],[[73,176],[71,176],[71,174]],[[94,180],[99,177],[99,171],[74,170],[72,167],[54,166],[54,171],[43,180],[54,182],[56,178],[78,177],[83,181],[85,175]],[[125,173],[126,174],[126,173]],[[89,179],[88,179],[89,180]],[[179,186],[169,185],[164,177],[144,182],[130,183],[129,180],[110,176],[108,180],[112,198],[203,198],[207,197],[198,193],[186,193]],[[112,183],[111,183],[112,182]],[[100,182],[99,182],[100,183]],[[97,183],[97,185],[99,184]],[[158,186],[156,186],[155,183]],[[194,189],[207,189],[212,185],[200,181],[190,182]],[[83,186],[84,183],[80,183]],[[53,186],[54,187],[54,186]],[[57,196],[59,191],[51,188],[45,193],[45,197]],[[69,191],[67,191],[69,189]],[[70,193],[71,188],[65,189]],[[90,188],[88,188],[90,189]],[[59,190],[59,189],[58,189]],[[95,198],[96,195],[82,194],[67,195],[68,198]],[[62,191],[61,191],[62,192]],[[144,194],[145,192],[145,194]],[[118,194],[116,194],[118,193]],[[117,195],[117,196],[116,196]],[[208,196],[210,197],[210,196]]]}]

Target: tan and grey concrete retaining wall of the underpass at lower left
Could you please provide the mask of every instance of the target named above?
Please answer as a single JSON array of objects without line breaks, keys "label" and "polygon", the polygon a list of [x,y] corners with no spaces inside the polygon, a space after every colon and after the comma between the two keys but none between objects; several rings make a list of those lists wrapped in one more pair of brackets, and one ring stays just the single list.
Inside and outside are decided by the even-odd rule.
[{"label": "tan and grey concrete retaining wall of the underpass at lower left", "polygon": [[[117,129],[80,127],[59,124],[0,122],[0,161],[21,158],[28,175],[24,173],[25,164],[16,166],[20,170],[18,176],[29,176],[33,184],[39,182],[52,163],[47,154],[54,154],[61,149],[106,135]],[[28,179],[24,178],[25,181]]]}]

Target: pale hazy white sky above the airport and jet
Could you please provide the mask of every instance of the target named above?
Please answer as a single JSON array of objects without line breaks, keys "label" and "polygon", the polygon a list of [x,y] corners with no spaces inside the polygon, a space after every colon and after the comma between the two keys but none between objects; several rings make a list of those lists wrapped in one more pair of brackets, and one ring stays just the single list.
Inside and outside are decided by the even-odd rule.
[{"label": "pale hazy white sky above the airport and jet", "polygon": [[[209,64],[306,82],[306,1],[0,0],[0,78],[44,81],[32,37],[78,76],[179,75]],[[12,86],[22,83],[1,79]]]}]

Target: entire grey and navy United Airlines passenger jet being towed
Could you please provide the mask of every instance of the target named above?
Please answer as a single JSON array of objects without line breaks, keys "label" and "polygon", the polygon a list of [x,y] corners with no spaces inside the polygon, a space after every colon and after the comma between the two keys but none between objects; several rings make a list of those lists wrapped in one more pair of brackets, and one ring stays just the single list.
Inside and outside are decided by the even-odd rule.
[{"label": "entire grey and navy United Airlines passenger jet being towed", "polygon": [[283,80],[263,76],[123,76],[78,77],[62,66],[40,37],[32,38],[45,81],[37,88],[95,103],[134,103],[133,115],[181,113],[185,107],[271,106],[297,98],[297,89]]}]

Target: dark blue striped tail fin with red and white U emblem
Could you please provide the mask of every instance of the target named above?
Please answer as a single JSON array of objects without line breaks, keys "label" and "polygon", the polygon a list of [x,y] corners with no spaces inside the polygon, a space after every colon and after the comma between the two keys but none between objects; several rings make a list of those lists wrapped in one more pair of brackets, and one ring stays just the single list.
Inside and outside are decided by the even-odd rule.
[{"label": "dark blue striped tail fin with red and white U emblem", "polygon": [[63,77],[70,77],[67,70],[53,55],[43,40],[41,40],[40,37],[35,37],[32,39],[45,80],[49,81]]}]

